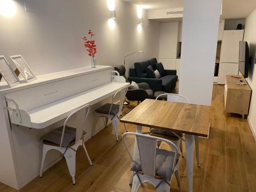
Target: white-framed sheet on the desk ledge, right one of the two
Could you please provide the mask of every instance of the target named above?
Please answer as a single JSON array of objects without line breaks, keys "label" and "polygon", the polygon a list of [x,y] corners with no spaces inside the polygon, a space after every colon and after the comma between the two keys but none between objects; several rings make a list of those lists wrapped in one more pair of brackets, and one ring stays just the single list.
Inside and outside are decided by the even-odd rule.
[{"label": "white-framed sheet on the desk ledge, right one of the two", "polygon": [[27,82],[31,82],[36,79],[36,76],[30,69],[28,63],[24,60],[22,55],[13,55],[10,56],[10,58],[12,59],[18,71],[22,74],[22,76]]}]

